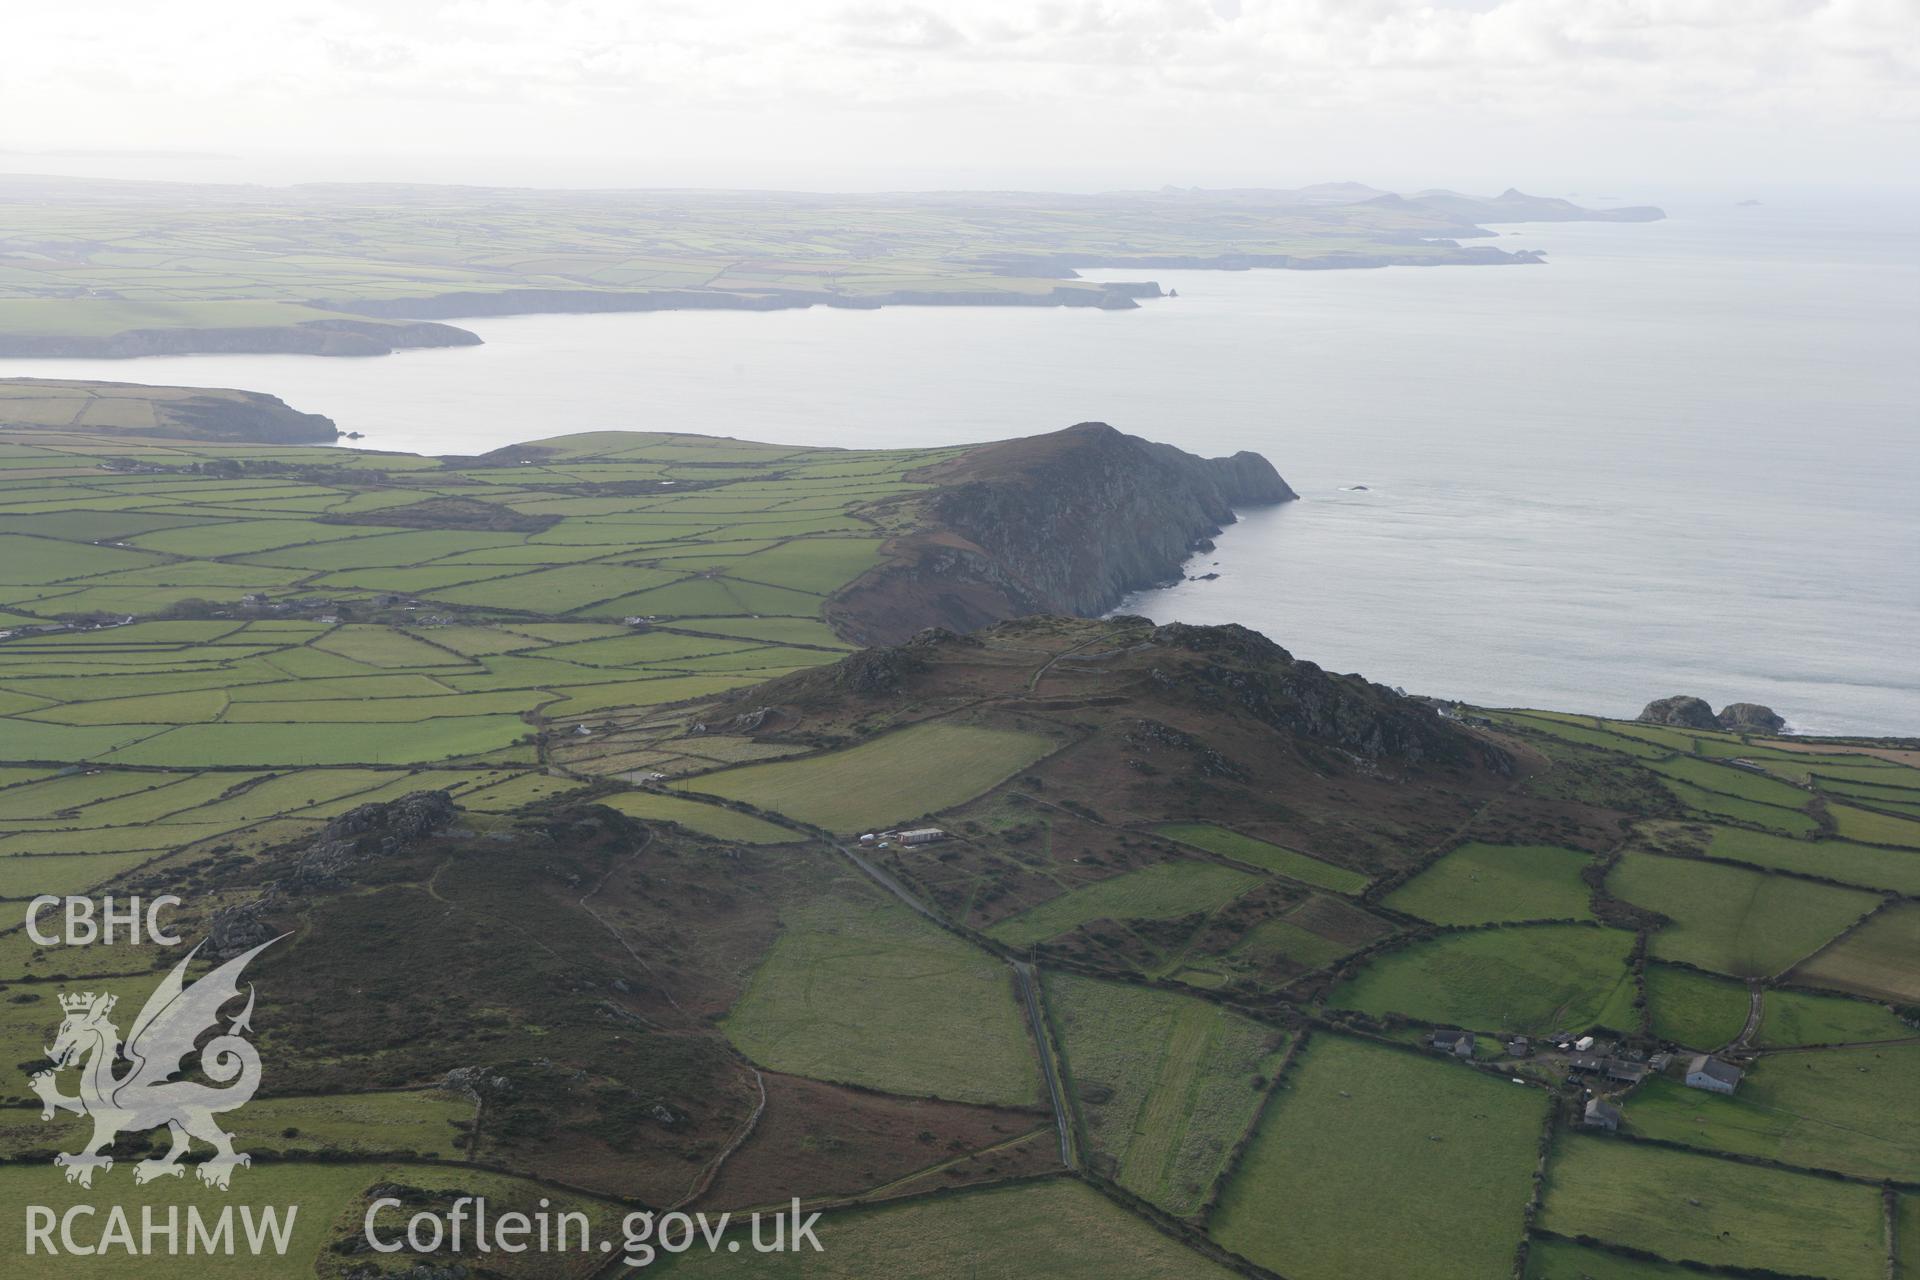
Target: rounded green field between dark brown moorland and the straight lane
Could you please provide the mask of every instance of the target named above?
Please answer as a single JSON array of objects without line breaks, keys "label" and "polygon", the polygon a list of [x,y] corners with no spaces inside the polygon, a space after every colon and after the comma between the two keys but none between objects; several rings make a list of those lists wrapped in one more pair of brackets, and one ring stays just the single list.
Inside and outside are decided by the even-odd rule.
[{"label": "rounded green field between dark brown moorland and the straight lane", "polygon": [[1031,1107],[1014,971],[864,881],[781,917],[726,1034],[753,1061],[906,1096]]}]

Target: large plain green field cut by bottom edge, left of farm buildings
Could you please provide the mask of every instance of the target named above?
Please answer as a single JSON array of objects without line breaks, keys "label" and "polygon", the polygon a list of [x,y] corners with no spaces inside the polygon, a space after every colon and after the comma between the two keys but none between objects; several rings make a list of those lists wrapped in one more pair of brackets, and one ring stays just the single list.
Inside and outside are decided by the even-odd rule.
[{"label": "large plain green field cut by bottom edge, left of farm buildings", "polygon": [[1315,1036],[1210,1230],[1296,1280],[1507,1274],[1544,1117],[1540,1090]]}]

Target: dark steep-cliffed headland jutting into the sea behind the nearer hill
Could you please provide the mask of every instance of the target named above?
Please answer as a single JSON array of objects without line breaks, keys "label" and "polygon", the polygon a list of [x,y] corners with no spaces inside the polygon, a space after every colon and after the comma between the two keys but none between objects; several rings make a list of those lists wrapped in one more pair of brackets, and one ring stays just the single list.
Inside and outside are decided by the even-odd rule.
[{"label": "dark steep-cliffed headland jutting into the sea behind the nearer hill", "polygon": [[829,606],[860,643],[1027,614],[1098,616],[1177,580],[1235,507],[1296,497],[1258,453],[1202,459],[1104,422],[981,445],[914,480],[937,487],[876,509],[912,532]]}]

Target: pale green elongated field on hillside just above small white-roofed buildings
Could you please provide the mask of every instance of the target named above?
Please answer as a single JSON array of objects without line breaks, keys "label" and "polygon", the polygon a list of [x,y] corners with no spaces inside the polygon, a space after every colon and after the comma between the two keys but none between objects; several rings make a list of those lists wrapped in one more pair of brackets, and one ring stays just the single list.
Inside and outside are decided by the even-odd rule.
[{"label": "pale green elongated field on hillside just above small white-roofed buildings", "polygon": [[751,764],[682,787],[831,831],[872,831],[972,800],[1054,747],[1054,739],[1039,733],[931,722],[845,750]]}]

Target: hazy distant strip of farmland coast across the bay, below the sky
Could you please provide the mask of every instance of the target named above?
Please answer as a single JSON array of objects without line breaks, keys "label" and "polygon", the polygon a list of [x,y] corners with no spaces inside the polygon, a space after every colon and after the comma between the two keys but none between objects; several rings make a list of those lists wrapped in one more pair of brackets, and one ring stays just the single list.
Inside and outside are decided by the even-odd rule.
[{"label": "hazy distant strip of farmland coast across the bay, below the sky", "polygon": [[[221,188],[0,177],[0,359],[390,355],[478,345],[472,317],[1083,307],[1165,297],[1083,269],[1513,267],[1500,223],[1640,223],[1505,190],[553,192]],[[86,236],[69,226],[84,223]],[[290,230],[292,228],[292,230]],[[207,234],[221,246],[207,249]],[[113,246],[136,240],[138,249]],[[204,263],[182,288],[171,263]]]}]

